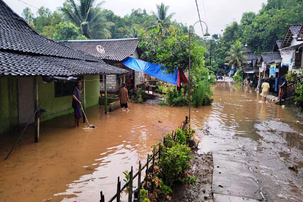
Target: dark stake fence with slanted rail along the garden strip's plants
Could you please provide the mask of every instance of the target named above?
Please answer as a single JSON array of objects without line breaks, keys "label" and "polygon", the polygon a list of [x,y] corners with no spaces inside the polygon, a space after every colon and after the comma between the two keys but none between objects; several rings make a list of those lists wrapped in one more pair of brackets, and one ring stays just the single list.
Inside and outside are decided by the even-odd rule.
[{"label": "dark stake fence with slanted rail along the garden strip's plants", "polygon": [[[180,128],[182,131],[184,131],[185,127],[186,127],[186,124],[188,122],[188,117],[186,116],[185,117],[185,122],[183,124],[181,124],[178,128]],[[175,133],[174,133],[175,132]],[[175,141],[176,140],[176,132],[177,131],[172,131],[171,133],[171,136],[173,138],[173,140]],[[163,144],[165,143],[165,137],[163,138]],[[140,190],[141,190],[141,174],[142,174],[142,170],[146,169],[145,170],[145,186],[148,186],[147,184],[147,181],[148,181],[148,174],[149,174],[149,169],[148,169],[148,165],[151,163],[151,172],[154,170],[154,165],[155,165],[155,161],[160,159],[161,157],[161,147],[163,147],[161,145],[161,143],[159,142],[157,145],[159,145],[157,151],[155,151],[155,148],[153,150],[153,153],[152,155],[148,154],[147,155],[147,160],[146,160],[146,164],[143,165],[142,167],[142,164],[141,164],[141,161],[139,161],[139,168],[138,168],[138,172],[136,174],[133,174],[134,171],[133,171],[133,167],[131,167],[131,171],[129,172],[129,180],[127,183],[125,183],[123,185],[123,187],[121,187],[121,180],[120,180],[120,177],[118,177],[118,181],[117,181],[117,192],[116,194],[110,199],[108,200],[108,202],[112,202],[114,200],[116,200],[117,202],[120,202],[120,194],[123,190],[126,189],[126,187],[128,187],[128,202],[132,202],[133,200],[133,183],[134,183],[134,180],[136,177],[138,177],[138,199],[140,199]],[[198,146],[198,144],[196,145],[196,147]],[[154,190],[154,185],[153,183],[151,183],[151,191]],[[101,199],[100,199],[100,202],[105,202],[105,199],[104,199],[104,194],[103,192],[101,191],[100,192],[100,195],[101,195]]]}]

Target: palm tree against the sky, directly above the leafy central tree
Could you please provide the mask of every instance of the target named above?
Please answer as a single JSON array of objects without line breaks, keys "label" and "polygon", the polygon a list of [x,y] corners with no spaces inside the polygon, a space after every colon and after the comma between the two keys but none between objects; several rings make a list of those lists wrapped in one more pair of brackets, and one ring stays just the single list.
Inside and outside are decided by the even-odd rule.
[{"label": "palm tree against the sky, directly above the leafy central tree", "polygon": [[169,25],[171,25],[171,18],[175,15],[175,13],[171,13],[167,15],[167,11],[169,6],[165,6],[164,3],[161,3],[161,5],[156,4],[157,7],[157,13],[151,12],[153,17],[155,18],[155,21],[146,21],[145,23],[150,25],[148,29],[157,28],[160,27],[159,33],[163,34],[163,28],[168,29]]}]

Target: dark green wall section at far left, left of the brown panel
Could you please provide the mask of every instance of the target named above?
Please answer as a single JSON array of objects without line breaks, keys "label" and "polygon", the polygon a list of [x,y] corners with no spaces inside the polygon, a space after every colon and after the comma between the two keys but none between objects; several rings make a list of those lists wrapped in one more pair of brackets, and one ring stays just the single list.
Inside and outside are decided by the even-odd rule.
[{"label": "dark green wall section at far left, left of the brown panel", "polygon": [[0,76],[0,134],[18,126],[17,78]]}]

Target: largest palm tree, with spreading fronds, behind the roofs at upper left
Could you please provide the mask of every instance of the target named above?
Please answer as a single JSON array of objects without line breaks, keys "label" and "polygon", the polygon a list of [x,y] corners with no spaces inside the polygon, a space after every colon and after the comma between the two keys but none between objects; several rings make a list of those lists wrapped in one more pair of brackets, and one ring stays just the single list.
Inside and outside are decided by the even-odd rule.
[{"label": "largest palm tree, with spreading fronds, behind the roofs at upper left", "polygon": [[58,10],[68,21],[78,26],[87,38],[111,38],[112,33],[108,29],[115,24],[106,20],[110,12],[101,10],[100,6],[104,3],[96,4],[96,0],[80,0],[79,3],[67,0]]}]

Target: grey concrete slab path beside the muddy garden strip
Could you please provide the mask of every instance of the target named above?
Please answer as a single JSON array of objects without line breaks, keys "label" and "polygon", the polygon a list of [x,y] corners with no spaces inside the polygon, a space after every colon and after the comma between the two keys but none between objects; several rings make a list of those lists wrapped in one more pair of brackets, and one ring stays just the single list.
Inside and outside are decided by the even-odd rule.
[{"label": "grey concrete slab path beside the muddy garden strip", "polygon": [[213,151],[214,202],[261,201],[260,187],[241,151]]}]

